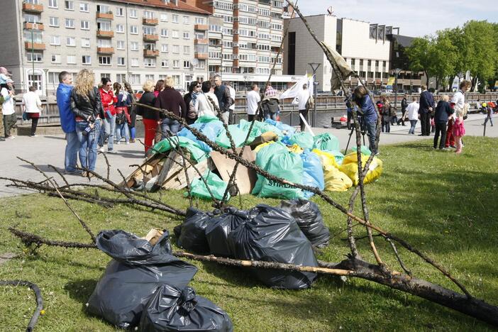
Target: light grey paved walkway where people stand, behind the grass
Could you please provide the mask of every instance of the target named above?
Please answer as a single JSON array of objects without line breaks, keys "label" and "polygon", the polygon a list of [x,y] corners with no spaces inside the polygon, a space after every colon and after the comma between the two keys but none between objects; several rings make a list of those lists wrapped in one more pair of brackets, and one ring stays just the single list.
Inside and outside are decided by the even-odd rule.
[{"label": "light grey paved walkway where people stand, behind the grass", "polygon": [[[471,114],[467,121],[465,121],[467,135],[482,135],[483,127],[481,126],[481,123],[484,118],[485,116],[482,114]],[[494,123],[496,124],[494,127],[490,127],[488,123],[486,133],[488,137],[498,137],[497,115],[494,116]],[[426,139],[426,137],[418,136],[420,133],[420,126],[417,126],[416,135],[408,135],[408,129],[409,126],[391,126],[391,133],[382,133],[380,145]],[[341,148],[345,148],[350,131],[346,129],[314,128],[315,134],[324,132],[336,135],[341,141]],[[368,142],[366,137],[365,140]],[[355,140],[353,137],[350,146],[351,144],[354,144],[354,142]],[[135,169],[135,167],[130,167],[130,165],[137,165],[140,164],[140,162],[143,162],[143,145],[140,143],[132,143],[130,145],[114,145],[114,147],[118,153],[114,155],[108,154],[107,156],[111,164],[111,179],[115,182],[120,182],[121,176],[118,174],[117,169],[121,170],[126,176]],[[21,160],[18,160],[16,158],[18,156],[34,162],[40,169],[47,172],[48,175],[55,177],[59,183],[62,183],[62,180],[59,180],[59,175],[47,165],[54,165],[62,170],[64,164],[64,148],[65,139],[62,135],[45,135],[35,138],[17,136],[16,140],[0,141],[0,175],[2,177],[30,179],[33,181],[42,181],[44,179],[43,175],[36,170],[33,170],[31,165],[27,165]],[[96,172],[101,175],[106,175],[107,172],[106,162],[101,155],[99,155],[96,162]],[[71,183],[88,181],[87,179],[74,175],[68,175],[67,179]],[[96,180],[92,179],[92,182],[94,181]],[[6,187],[6,184],[7,182],[0,180],[0,197],[26,194],[26,191]]]}]

